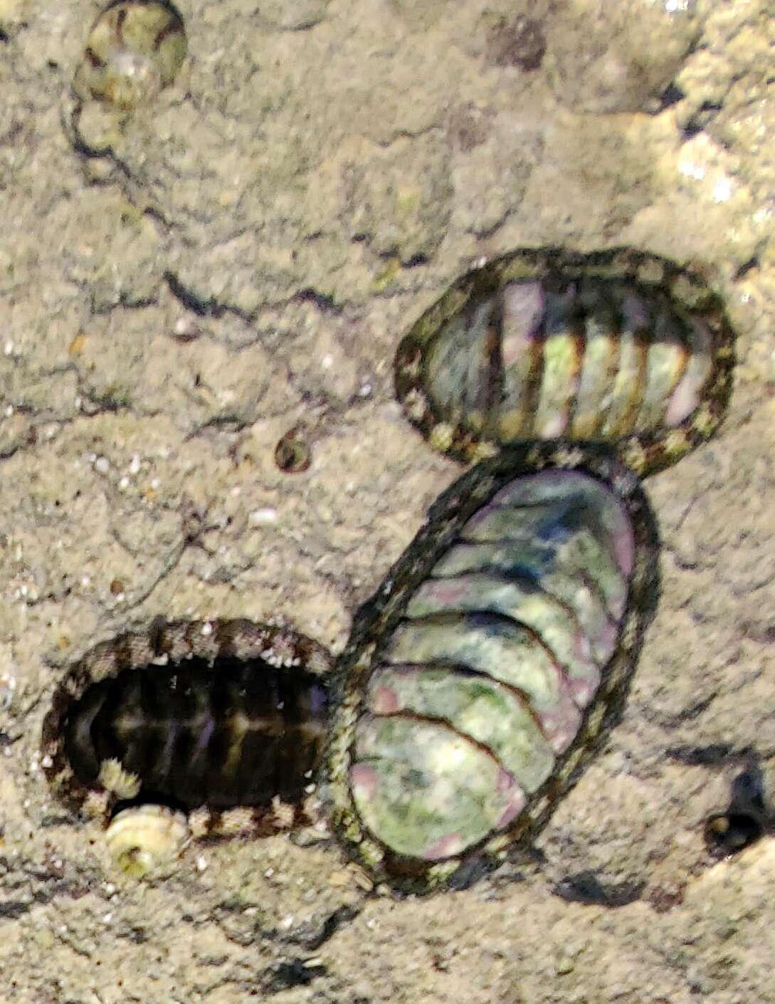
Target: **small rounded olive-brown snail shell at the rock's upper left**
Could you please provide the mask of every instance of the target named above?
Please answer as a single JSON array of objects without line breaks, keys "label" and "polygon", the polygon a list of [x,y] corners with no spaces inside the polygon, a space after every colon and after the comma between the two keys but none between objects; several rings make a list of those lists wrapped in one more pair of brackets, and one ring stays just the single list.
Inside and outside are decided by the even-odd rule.
[{"label": "small rounded olive-brown snail shell at the rock's upper left", "polygon": [[91,26],[73,88],[82,100],[127,111],[173,82],[186,51],[183,18],[171,3],[117,0]]}]

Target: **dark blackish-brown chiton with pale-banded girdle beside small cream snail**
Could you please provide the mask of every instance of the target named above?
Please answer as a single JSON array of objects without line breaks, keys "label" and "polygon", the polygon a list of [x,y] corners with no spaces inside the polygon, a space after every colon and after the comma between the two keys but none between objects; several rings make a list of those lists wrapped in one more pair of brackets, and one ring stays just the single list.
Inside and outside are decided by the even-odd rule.
[{"label": "dark blackish-brown chiton with pale-banded girdle beside small cream snail", "polygon": [[249,620],[155,621],[111,639],[57,689],[48,780],[73,808],[196,812],[202,834],[288,825],[314,782],[328,665],[310,639]]}]

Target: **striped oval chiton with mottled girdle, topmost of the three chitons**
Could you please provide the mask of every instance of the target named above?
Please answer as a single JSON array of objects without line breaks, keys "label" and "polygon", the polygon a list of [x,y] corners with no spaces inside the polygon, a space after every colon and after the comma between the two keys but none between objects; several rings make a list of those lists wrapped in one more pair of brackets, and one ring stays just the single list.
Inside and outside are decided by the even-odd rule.
[{"label": "striped oval chiton with mottled girdle, topmost of the three chitons", "polygon": [[719,298],[655,255],[522,250],[456,282],[396,356],[405,412],[463,460],[530,440],[616,445],[643,475],[721,421],[734,336]]}]

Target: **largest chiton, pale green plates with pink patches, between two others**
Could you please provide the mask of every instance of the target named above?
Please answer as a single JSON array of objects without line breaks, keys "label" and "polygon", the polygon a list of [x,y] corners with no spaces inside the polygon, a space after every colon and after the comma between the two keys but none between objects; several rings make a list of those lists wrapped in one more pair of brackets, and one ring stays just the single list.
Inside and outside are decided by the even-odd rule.
[{"label": "largest chiton, pale green plates with pink patches, between two others", "polygon": [[602,448],[508,448],[439,499],[337,671],[332,815],[377,877],[433,887],[537,831],[615,720],[656,554]]}]

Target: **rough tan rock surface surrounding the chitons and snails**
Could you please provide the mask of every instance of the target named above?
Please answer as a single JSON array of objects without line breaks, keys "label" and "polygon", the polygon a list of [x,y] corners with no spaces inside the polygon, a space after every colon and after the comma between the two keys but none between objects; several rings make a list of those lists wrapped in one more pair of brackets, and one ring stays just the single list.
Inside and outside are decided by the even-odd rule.
[{"label": "rough tan rock surface surrounding the chitons and snails", "polygon": [[[178,81],[119,119],[69,91],[99,5],[0,0],[0,999],[775,1001],[775,845],[702,843],[775,757],[772,3],[180,9]],[[160,613],[339,651],[458,474],[393,400],[399,340],[545,245],[691,265],[740,332],[721,434],[648,483],[663,593],[604,752],[467,890],[369,894],[320,828],[122,880],[42,778],[62,668]]]}]

